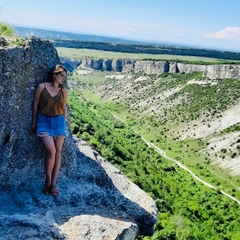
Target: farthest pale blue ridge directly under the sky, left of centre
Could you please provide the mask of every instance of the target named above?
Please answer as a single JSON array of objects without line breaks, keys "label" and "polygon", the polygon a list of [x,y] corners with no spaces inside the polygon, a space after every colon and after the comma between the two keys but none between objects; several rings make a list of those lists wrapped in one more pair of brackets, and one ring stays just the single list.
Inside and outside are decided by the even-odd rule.
[{"label": "farthest pale blue ridge directly under the sky, left of centre", "polygon": [[47,39],[79,40],[79,41],[94,41],[94,42],[124,43],[124,44],[140,44],[141,43],[141,42],[126,40],[121,38],[60,32],[60,31],[44,30],[44,29],[37,29],[37,28],[26,28],[26,27],[14,26],[14,30],[19,36],[24,36],[24,37],[34,35],[37,37],[47,38]]}]

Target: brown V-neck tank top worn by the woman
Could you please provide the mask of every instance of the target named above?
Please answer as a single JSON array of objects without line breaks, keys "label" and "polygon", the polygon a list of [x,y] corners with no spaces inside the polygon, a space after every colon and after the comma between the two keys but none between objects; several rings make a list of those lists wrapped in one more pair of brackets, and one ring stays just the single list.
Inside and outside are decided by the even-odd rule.
[{"label": "brown V-neck tank top worn by the woman", "polygon": [[41,92],[39,101],[39,113],[48,116],[57,116],[63,114],[63,96],[62,89],[58,94],[52,97],[46,86]]}]

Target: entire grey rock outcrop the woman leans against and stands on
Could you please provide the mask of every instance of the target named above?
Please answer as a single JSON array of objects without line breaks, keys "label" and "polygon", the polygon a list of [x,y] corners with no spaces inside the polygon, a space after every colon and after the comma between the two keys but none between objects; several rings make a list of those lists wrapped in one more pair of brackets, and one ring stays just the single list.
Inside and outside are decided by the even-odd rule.
[{"label": "entire grey rock outcrop the woman leans against and stands on", "polygon": [[1,237],[97,240],[152,234],[153,200],[71,133],[63,147],[60,195],[42,194],[44,153],[30,132],[32,101],[37,84],[59,62],[52,44],[38,38],[0,48]]}]

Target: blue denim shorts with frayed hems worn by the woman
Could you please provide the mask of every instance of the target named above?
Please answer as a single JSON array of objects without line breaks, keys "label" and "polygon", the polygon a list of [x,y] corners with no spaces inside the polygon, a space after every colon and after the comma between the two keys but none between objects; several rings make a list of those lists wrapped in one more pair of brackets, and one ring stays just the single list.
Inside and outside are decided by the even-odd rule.
[{"label": "blue denim shorts with frayed hems worn by the woman", "polygon": [[37,136],[67,136],[67,126],[64,115],[47,116],[39,113],[37,118]]}]

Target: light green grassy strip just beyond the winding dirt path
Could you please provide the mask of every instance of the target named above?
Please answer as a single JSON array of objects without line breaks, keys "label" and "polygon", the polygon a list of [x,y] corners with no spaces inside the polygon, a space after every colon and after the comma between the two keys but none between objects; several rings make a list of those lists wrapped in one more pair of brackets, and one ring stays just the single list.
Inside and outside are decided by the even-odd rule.
[{"label": "light green grassy strip just beyond the winding dirt path", "polygon": [[[82,81],[84,81],[83,79]],[[122,85],[126,85],[126,83],[123,83]],[[116,91],[113,91],[112,96],[107,95],[110,94],[110,91],[108,91],[108,88],[106,88],[106,86],[107,83],[105,83],[103,87],[105,88],[104,93],[102,92],[102,88],[97,88],[95,94],[88,92],[87,90],[85,91],[85,94],[88,99],[91,99],[98,104],[103,103],[103,101],[106,101],[107,99],[119,97],[120,95],[125,96],[125,92],[122,89],[119,90],[118,93]],[[109,86],[112,86],[112,83],[110,83]],[[117,89],[117,87],[118,86],[115,83],[114,89]],[[140,92],[139,89],[138,92]],[[119,96],[117,96],[117,94],[119,94]],[[133,95],[133,93],[131,94]],[[105,97],[100,98],[100,95],[104,95]],[[133,102],[135,102],[137,97],[136,95],[133,95],[132,98],[134,99]],[[129,104],[127,102],[129,102],[129,99],[125,99],[125,106]],[[216,99],[216,102],[218,102],[218,99]],[[176,107],[175,111],[177,112],[176,115],[179,115],[181,113],[178,107]],[[174,132],[176,133],[178,131],[182,119],[180,119],[179,122],[172,122],[170,120],[163,121],[162,124],[159,124],[159,121],[161,121],[164,117],[161,115],[162,113],[156,115],[154,118],[158,118],[159,120],[154,121],[154,118],[149,117],[148,112],[139,114],[138,110],[127,111],[124,107],[122,107],[122,105],[113,107],[112,112],[123,119],[124,122],[132,125],[133,129],[144,136],[144,138],[146,138],[148,141],[155,143],[155,145],[166,151],[169,157],[180,160],[203,180],[215,185],[222,190],[227,191],[230,195],[236,196],[238,199],[240,199],[240,192],[238,189],[239,176],[231,176],[228,169],[223,169],[217,165],[210,164],[211,160],[209,159],[209,156],[204,153],[199,153],[199,150],[206,147],[206,143],[208,141],[207,139],[200,140],[190,138],[182,141],[174,140],[176,139],[176,134],[174,134]],[[168,114],[170,116],[170,112],[168,112]],[[187,124],[188,123],[185,122],[184,124],[181,124],[181,127],[183,127],[183,125],[186,127]]]}]

